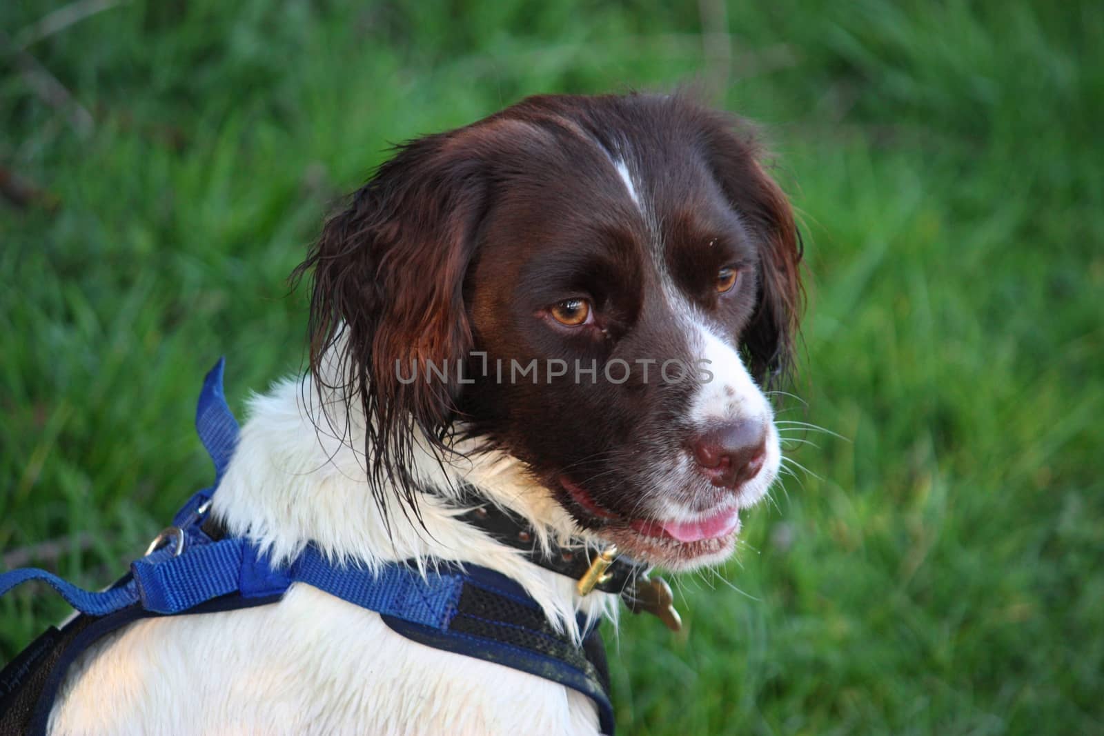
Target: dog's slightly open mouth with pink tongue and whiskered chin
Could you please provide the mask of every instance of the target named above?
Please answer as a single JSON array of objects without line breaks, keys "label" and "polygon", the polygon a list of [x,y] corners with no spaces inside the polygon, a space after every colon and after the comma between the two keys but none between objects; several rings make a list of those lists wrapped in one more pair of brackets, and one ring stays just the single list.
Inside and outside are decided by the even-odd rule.
[{"label": "dog's slightly open mouth with pink tongue and whiskered chin", "polygon": [[561,477],[559,484],[573,505],[585,514],[595,533],[638,559],[675,569],[697,566],[731,551],[740,531],[735,505],[707,511],[690,521],[634,518],[599,504],[577,483]]}]

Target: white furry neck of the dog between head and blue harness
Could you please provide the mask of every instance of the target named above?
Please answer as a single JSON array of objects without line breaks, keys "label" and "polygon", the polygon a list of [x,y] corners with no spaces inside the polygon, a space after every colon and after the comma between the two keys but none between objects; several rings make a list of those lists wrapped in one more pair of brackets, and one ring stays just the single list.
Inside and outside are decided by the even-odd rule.
[{"label": "white furry neck of the dog between head and blue harness", "polygon": [[420,499],[421,523],[401,508],[397,491],[384,493],[385,519],[367,480],[364,426],[358,402],[332,393],[320,397],[310,376],[278,382],[250,402],[248,420],[214,495],[214,515],[277,563],[294,558],[308,543],[336,561],[370,568],[411,559],[423,569],[439,561],[467,562],[517,580],[550,622],[573,637],[580,636],[576,611],[588,620],[616,618],[616,596],[593,591],[580,598],[573,579],[456,519],[455,497],[449,497],[464,480],[491,503],[526,518],[545,548],[585,540],[520,462],[484,452],[460,454],[442,466],[416,448],[407,470],[437,492]]}]

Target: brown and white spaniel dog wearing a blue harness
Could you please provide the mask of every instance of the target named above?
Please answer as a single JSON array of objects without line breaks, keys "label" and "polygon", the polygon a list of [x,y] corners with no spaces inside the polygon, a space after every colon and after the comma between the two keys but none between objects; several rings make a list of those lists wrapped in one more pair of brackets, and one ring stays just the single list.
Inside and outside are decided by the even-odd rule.
[{"label": "brown and white spaniel dog wearing a blue harness", "polygon": [[[577,642],[616,622],[617,595],[466,523],[460,488],[539,551],[724,561],[779,470],[765,387],[792,363],[800,259],[754,135],[684,95],[531,97],[405,143],[297,270],[310,371],[251,401],[212,518],[274,564],[312,544],[370,569],[496,570]],[[53,734],[599,728],[575,690],[305,584],[128,625],[70,668],[50,717]]]}]

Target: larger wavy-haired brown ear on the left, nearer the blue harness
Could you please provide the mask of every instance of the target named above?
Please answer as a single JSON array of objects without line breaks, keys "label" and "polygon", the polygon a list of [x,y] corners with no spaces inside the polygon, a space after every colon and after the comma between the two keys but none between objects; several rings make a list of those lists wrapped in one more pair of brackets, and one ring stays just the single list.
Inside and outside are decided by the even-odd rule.
[{"label": "larger wavy-haired brown ear on the left, nearer the blue harness", "polygon": [[[438,460],[447,452],[457,360],[471,348],[464,277],[487,180],[482,164],[450,141],[445,134],[402,146],[326,223],[293,275],[312,273],[310,370],[319,392],[337,388],[346,403],[359,399],[368,478],[381,510],[390,486],[406,501],[404,512],[417,514],[406,469],[414,467],[415,444],[427,444]],[[431,362],[438,373],[427,380]]]}]

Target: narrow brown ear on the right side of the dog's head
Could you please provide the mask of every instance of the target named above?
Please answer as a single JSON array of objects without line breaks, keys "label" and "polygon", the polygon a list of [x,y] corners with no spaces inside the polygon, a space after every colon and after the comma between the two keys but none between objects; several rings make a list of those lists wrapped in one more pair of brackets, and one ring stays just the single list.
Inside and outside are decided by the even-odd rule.
[{"label": "narrow brown ear on the right side of the dog's head", "polygon": [[804,248],[789,200],[763,168],[763,152],[749,126],[715,116],[705,143],[713,173],[760,244],[758,300],[743,335],[749,370],[762,385],[793,364],[805,291]]}]

